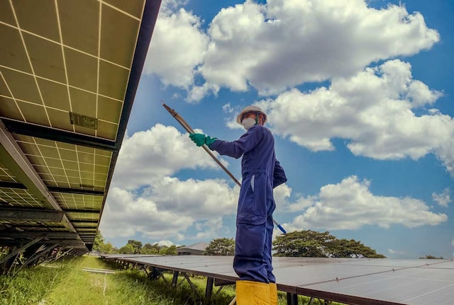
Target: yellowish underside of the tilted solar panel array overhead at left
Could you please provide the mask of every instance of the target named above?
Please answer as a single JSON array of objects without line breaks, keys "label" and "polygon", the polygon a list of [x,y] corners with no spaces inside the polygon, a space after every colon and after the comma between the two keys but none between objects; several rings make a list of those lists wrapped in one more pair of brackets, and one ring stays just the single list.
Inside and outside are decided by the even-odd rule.
[{"label": "yellowish underside of the tilted solar panel array overhead at left", "polygon": [[159,7],[0,1],[0,246],[92,248]]}]

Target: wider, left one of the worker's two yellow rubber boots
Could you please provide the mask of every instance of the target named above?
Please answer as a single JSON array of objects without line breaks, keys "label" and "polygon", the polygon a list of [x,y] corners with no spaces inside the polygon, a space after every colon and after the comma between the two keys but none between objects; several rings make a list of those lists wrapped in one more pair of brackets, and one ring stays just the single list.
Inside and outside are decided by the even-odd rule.
[{"label": "wider, left one of the worker's two yellow rubber boots", "polygon": [[237,305],[270,305],[270,284],[236,281]]}]

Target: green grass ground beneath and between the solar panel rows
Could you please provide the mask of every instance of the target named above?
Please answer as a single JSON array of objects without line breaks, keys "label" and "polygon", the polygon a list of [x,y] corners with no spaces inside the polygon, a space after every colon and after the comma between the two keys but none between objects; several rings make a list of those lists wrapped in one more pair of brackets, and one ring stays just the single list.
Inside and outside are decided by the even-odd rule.
[{"label": "green grass ground beneath and between the solar panel rows", "polygon": [[[100,258],[84,255],[21,270],[13,275],[0,275],[0,305],[204,304],[204,277],[191,277],[198,291],[194,294],[187,281],[182,279],[179,279],[182,284],[172,289],[169,286],[172,281],[170,273],[165,274],[166,283],[162,279],[149,280],[145,272],[138,270],[106,274],[87,272],[84,268],[115,270],[114,265]],[[225,287],[216,294],[211,304],[227,305],[234,296],[234,289]],[[284,304],[287,304],[286,295],[279,293],[279,305]],[[299,297],[299,304],[309,304],[309,299]],[[315,301],[313,304],[322,303]]]}]

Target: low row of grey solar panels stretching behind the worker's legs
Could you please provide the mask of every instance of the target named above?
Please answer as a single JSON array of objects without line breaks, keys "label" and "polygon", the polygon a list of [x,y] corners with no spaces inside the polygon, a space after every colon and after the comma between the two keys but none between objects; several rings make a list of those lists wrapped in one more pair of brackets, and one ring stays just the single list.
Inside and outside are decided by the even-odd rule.
[{"label": "low row of grey solar panels stretching behind the worker's legs", "polygon": [[[238,280],[232,256],[106,255],[165,270]],[[273,258],[278,289],[346,304],[454,304],[453,260]]]}]

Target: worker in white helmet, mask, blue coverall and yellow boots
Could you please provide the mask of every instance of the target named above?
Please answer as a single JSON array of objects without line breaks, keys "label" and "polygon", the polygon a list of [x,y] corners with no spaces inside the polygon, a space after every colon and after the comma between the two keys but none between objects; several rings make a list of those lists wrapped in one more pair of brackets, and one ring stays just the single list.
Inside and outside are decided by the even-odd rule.
[{"label": "worker in white helmet, mask, blue coverall and yellow boots", "polygon": [[272,273],[272,213],[276,204],[273,188],[285,183],[284,168],[275,157],[275,139],[265,125],[266,113],[255,105],[244,108],[236,118],[246,132],[240,139],[227,142],[192,133],[197,146],[206,144],[221,155],[241,160],[243,182],[236,215],[233,269],[238,305],[276,305],[276,278]]}]

